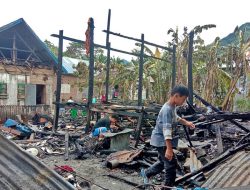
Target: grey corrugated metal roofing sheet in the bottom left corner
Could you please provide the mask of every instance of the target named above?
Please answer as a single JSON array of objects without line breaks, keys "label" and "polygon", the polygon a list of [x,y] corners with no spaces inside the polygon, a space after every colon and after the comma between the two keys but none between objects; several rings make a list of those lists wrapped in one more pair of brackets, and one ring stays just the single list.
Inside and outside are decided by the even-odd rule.
[{"label": "grey corrugated metal roofing sheet in the bottom left corner", "polygon": [[70,183],[0,134],[0,189],[73,190]]}]

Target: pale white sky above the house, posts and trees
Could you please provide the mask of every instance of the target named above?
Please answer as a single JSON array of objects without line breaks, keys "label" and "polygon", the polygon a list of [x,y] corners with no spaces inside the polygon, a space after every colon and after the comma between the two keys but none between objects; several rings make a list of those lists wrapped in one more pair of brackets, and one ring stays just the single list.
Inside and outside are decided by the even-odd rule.
[{"label": "pale white sky above the house, posts and trees", "polygon": [[[236,25],[250,22],[249,0],[3,0],[0,25],[24,18],[36,34],[57,45],[50,37],[64,30],[64,35],[85,40],[87,20],[95,21],[95,43],[105,45],[108,9],[111,9],[111,31],[165,45],[169,28],[192,29],[196,25],[216,24],[203,32],[206,43],[217,36],[225,37]],[[131,51],[134,41],[110,37],[111,45]],[[113,54],[114,55],[114,54]],[[127,58],[123,54],[122,58]]]}]

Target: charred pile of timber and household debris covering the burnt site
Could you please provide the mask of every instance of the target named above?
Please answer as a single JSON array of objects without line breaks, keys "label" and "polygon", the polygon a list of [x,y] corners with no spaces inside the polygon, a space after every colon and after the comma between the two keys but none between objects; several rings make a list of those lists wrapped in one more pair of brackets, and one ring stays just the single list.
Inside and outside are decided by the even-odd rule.
[{"label": "charred pile of timber and household debris covering the burnt site", "polygon": [[[229,158],[233,159],[232,155],[243,155],[245,162],[239,162],[250,166],[249,154],[246,152],[250,147],[250,113],[221,112],[201,97],[195,97],[207,109],[189,105],[178,110],[178,114],[192,121],[196,129],[187,130],[181,125],[178,127],[177,146],[174,150],[178,160],[176,185],[183,188],[234,186],[233,182],[220,183],[220,186],[216,183],[209,185],[209,181],[216,178],[214,175],[222,163]],[[20,116],[17,116],[16,121],[8,119],[0,126],[1,133],[40,158],[50,155],[64,155],[65,160],[98,157],[111,170],[119,168],[126,173],[137,172],[138,175],[141,167],[150,167],[157,161],[157,151],[150,146],[149,141],[160,105],[139,107],[96,104],[91,108],[93,120],[109,114],[120,117],[118,125],[121,130],[105,133],[103,138],[85,133],[85,105],[67,106],[61,110],[56,132],[52,131],[51,117],[36,114],[30,121]],[[75,109],[77,106],[78,109]],[[104,146],[107,142],[108,147]],[[78,189],[89,187],[87,179],[77,180],[76,171],[72,167],[56,166],[55,170]],[[118,176],[107,176],[141,187],[140,184]],[[162,180],[162,175],[157,175],[152,179],[152,185],[159,186]],[[250,185],[250,181],[239,182],[237,185]]]}]

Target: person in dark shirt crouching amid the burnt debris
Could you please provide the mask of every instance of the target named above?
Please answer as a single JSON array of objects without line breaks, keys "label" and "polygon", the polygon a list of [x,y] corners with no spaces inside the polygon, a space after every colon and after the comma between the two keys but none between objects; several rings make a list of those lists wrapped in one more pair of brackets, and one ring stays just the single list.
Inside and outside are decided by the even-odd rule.
[{"label": "person in dark shirt crouching amid the burnt debris", "polygon": [[94,137],[97,137],[108,131],[116,131],[118,129],[118,127],[116,126],[116,122],[118,120],[118,115],[111,115],[110,117],[99,119],[94,125],[92,135]]}]

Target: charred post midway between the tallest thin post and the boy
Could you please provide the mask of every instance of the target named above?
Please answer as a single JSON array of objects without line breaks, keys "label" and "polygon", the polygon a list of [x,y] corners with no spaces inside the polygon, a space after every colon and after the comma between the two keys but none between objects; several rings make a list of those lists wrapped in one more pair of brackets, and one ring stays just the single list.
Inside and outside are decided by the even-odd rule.
[{"label": "charred post midway between the tallest thin post and the boy", "polygon": [[139,86],[138,86],[138,106],[142,105],[142,88],[143,88],[143,56],[144,55],[144,34],[141,35],[141,53],[139,65]]}]

